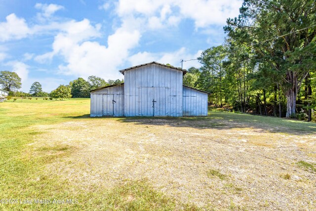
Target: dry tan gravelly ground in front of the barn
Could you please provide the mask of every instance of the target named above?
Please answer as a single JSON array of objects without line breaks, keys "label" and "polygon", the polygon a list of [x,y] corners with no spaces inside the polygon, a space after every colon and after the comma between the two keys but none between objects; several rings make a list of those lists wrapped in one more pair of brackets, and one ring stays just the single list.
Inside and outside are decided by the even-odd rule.
[{"label": "dry tan gravelly ground in front of the barn", "polygon": [[[316,210],[315,133],[218,119],[101,118],[37,126],[40,147],[69,155],[48,165],[75,189],[148,179],[179,203],[215,210]],[[49,140],[49,142],[47,141]]]}]

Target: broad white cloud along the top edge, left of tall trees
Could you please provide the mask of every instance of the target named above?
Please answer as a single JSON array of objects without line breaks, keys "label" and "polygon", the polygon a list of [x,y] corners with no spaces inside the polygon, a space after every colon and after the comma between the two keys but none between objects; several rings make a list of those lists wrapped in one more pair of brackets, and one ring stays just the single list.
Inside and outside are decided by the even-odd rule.
[{"label": "broad white cloud along the top edge, left of tall trees", "polygon": [[[224,25],[228,17],[238,15],[241,3],[242,0],[119,0],[117,13],[120,17],[141,16],[151,29],[161,28],[161,24],[170,26],[169,21],[174,24],[184,18],[193,19],[196,28],[204,28]],[[155,23],[158,27],[154,27]]]}]

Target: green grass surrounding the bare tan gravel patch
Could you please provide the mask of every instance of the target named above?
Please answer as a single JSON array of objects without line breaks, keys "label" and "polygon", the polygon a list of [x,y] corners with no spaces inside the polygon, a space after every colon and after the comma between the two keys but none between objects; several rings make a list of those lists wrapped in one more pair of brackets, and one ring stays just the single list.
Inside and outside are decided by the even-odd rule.
[{"label": "green grass surrounding the bare tan gravel patch", "polygon": [[[191,202],[183,203],[155,188],[146,178],[120,180],[108,188],[93,184],[89,189],[84,189],[78,188],[80,184],[73,184],[65,175],[47,174],[48,166],[54,165],[57,159],[72,156],[76,148],[67,144],[51,146],[50,130],[36,126],[51,126],[73,120],[89,123],[103,121],[100,124],[104,124],[109,119],[118,124],[132,122],[142,125],[145,122],[145,125],[151,125],[152,118],[148,117],[89,118],[89,107],[90,99],[51,101],[40,98],[0,103],[0,199],[19,200],[13,205],[0,203],[0,210],[247,210],[234,204],[228,207],[200,207]],[[253,128],[286,135],[316,134],[314,123],[225,112],[209,112],[208,117],[155,119],[169,121],[168,127],[216,130]],[[46,137],[47,146],[34,146],[37,144],[35,140]],[[315,168],[313,164],[307,164]],[[225,175],[216,169],[209,172],[210,178]],[[40,205],[20,204],[20,199],[22,203],[26,199],[74,201],[73,204],[61,201],[61,204]]]}]

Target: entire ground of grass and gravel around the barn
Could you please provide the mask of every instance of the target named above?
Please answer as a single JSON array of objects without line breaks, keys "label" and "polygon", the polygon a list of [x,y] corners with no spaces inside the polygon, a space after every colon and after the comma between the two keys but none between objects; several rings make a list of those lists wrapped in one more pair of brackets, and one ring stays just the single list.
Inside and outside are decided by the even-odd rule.
[{"label": "entire ground of grass and gravel around the barn", "polygon": [[315,123],[90,118],[89,105],[0,103],[0,210],[316,208]]}]

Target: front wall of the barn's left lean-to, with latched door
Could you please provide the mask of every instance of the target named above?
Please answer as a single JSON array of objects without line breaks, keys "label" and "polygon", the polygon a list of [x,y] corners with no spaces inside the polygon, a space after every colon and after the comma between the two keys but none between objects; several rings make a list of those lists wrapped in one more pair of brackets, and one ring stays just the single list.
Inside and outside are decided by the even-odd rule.
[{"label": "front wall of the barn's left lean-to, with latched door", "polygon": [[124,84],[92,91],[90,116],[124,116]]}]

